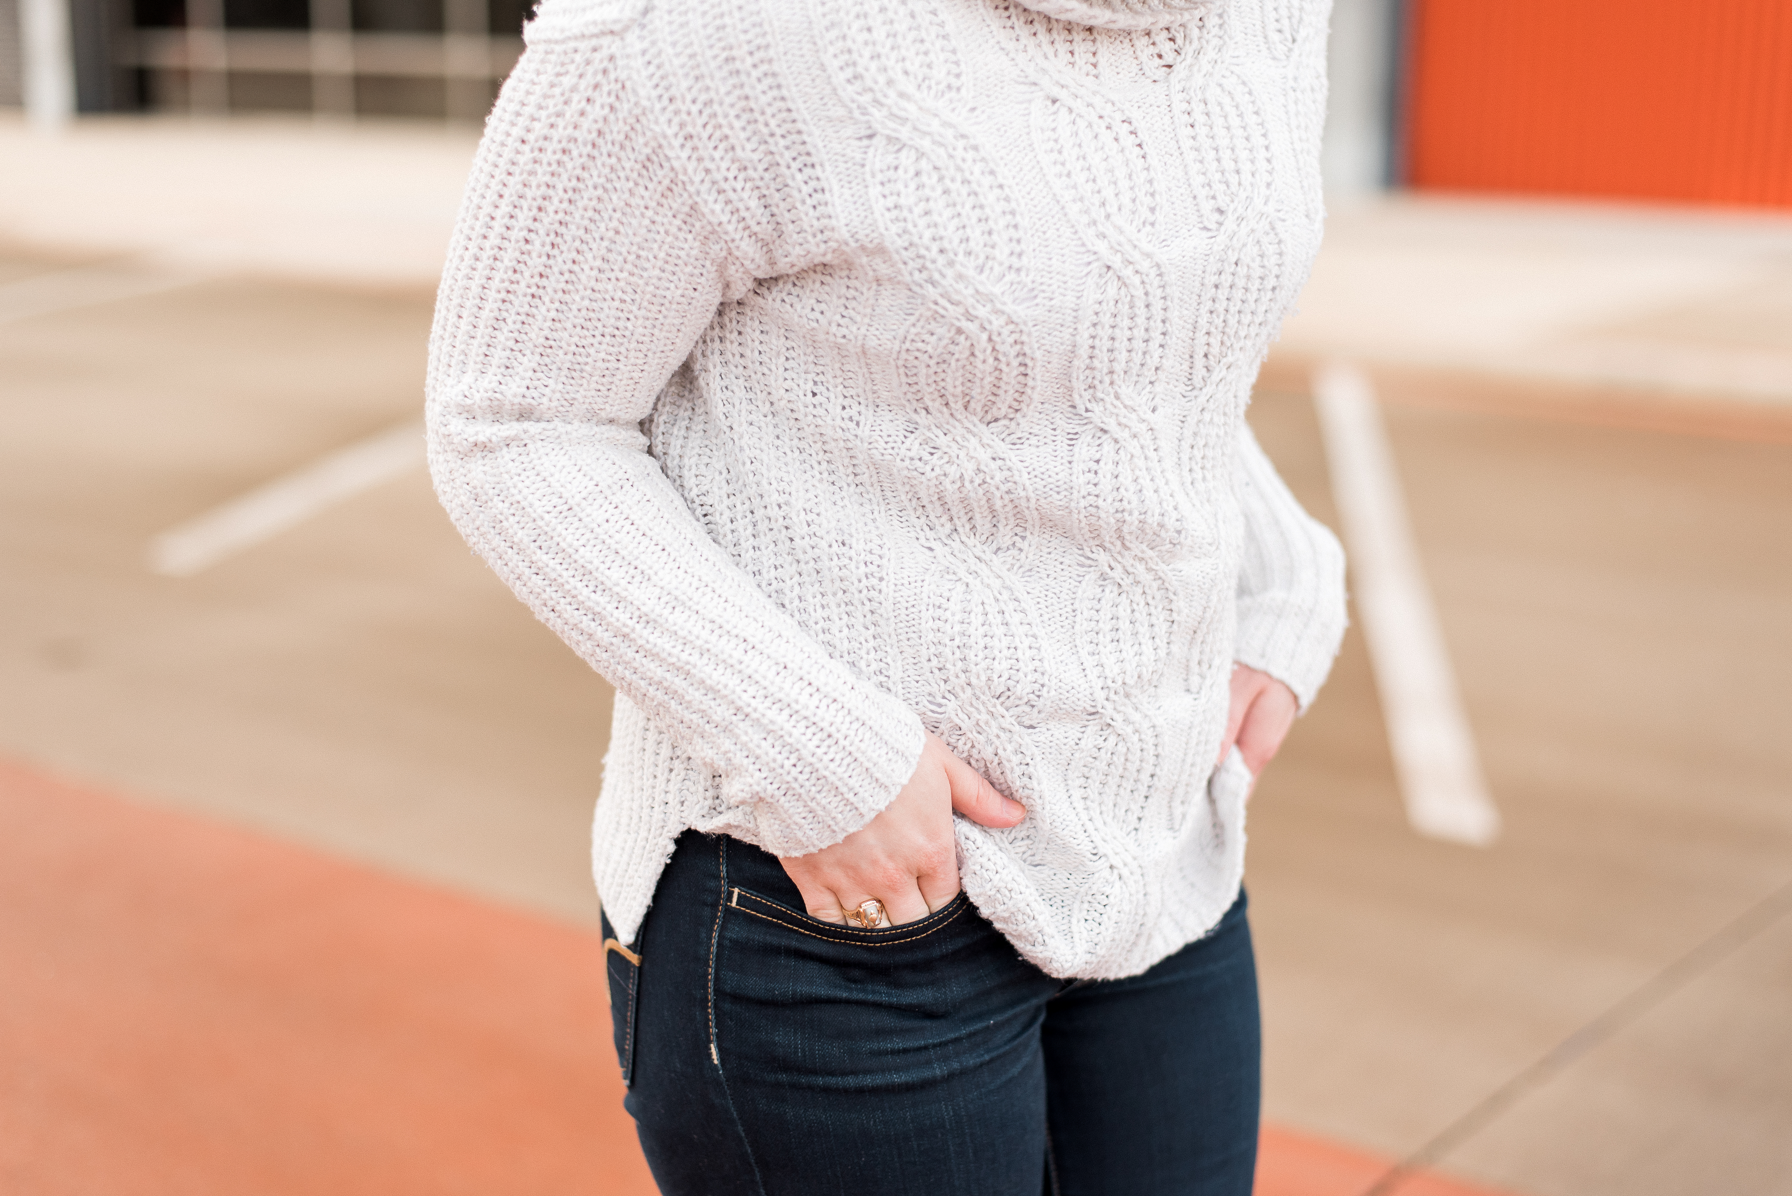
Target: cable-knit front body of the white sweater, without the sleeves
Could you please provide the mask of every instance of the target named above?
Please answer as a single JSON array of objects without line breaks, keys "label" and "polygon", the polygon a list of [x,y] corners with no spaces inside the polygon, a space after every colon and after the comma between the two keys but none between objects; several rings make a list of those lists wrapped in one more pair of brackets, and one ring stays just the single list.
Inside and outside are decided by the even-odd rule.
[{"label": "cable-knit front body of the white sweater, without the sleeves", "polygon": [[[961,827],[964,883],[1050,970],[1172,951],[1186,927],[1156,911],[1190,861],[1242,849],[1208,786],[1231,462],[1317,249],[1326,7],[1217,0],[1147,30],[1007,0],[642,18],[642,77],[722,113],[679,152],[733,172],[717,224],[771,276],[701,337],[652,453],[835,659],[1029,804],[1016,831]],[[616,729],[652,736],[625,709]],[[751,836],[695,773],[677,788],[686,824]]]}]

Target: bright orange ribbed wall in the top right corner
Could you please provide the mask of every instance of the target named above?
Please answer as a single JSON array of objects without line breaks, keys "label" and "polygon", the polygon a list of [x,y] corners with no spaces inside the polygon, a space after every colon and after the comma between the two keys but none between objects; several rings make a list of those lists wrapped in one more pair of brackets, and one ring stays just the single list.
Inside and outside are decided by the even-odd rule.
[{"label": "bright orange ribbed wall in the top right corner", "polygon": [[1792,0],[1410,0],[1407,183],[1792,208]]}]

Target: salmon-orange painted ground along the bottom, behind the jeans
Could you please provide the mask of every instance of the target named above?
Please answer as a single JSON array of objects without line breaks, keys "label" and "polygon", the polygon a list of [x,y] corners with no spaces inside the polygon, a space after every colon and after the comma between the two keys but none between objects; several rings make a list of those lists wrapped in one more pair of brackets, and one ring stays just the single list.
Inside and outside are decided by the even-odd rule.
[{"label": "salmon-orange painted ground along the bottom, behind the jeans", "polygon": [[[0,827],[9,1196],[656,1191],[595,935],[4,761]],[[1271,1128],[1258,1192],[1385,1171]]]}]

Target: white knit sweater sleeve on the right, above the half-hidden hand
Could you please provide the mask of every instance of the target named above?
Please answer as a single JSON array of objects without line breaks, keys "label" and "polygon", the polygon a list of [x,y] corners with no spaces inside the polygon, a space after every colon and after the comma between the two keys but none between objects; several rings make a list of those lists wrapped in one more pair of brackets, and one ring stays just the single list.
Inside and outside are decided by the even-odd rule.
[{"label": "white knit sweater sleeve on the right, above the half-hidden hand", "polygon": [[1305,711],[1344,641],[1344,548],[1301,508],[1244,421],[1235,469],[1244,564],[1233,659],[1287,682]]}]

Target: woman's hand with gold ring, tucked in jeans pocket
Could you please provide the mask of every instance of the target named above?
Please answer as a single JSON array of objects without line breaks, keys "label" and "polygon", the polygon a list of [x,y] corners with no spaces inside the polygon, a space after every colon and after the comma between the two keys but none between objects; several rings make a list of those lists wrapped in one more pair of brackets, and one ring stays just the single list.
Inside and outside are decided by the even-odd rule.
[{"label": "woman's hand with gold ring, tucked in jeans pocket", "polygon": [[953,809],[986,827],[1011,827],[1027,816],[1025,806],[996,793],[930,734],[914,775],[883,813],[833,847],[778,863],[814,918],[846,922],[848,910],[876,899],[892,924],[914,922],[959,895]]}]

